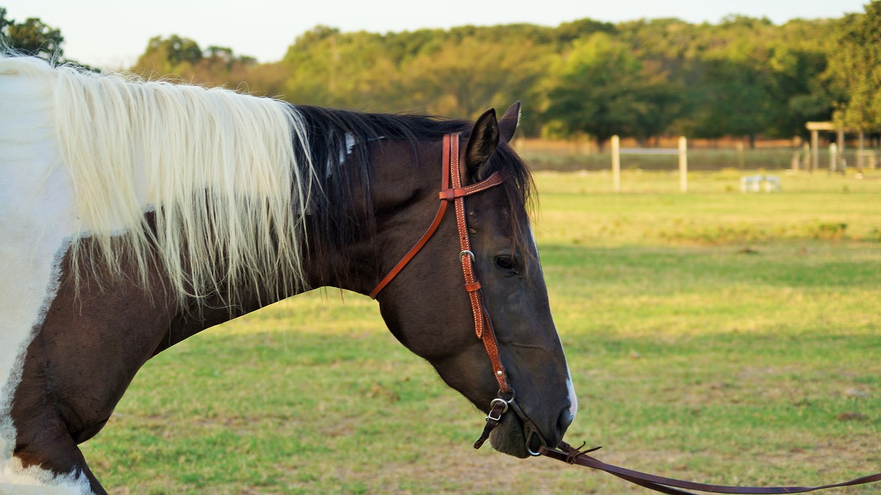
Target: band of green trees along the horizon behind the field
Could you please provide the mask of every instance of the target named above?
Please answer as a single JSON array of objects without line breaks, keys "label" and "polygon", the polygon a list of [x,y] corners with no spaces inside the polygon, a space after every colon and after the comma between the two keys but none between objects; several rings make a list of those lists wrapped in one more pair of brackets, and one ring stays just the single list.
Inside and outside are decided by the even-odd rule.
[{"label": "band of green trees along the horizon behind the field", "polygon": [[[13,47],[42,26],[55,36],[42,48],[60,53],[60,31],[39,19],[3,19],[0,33]],[[600,145],[615,134],[649,144],[670,135],[754,143],[804,136],[805,122],[827,120],[877,133],[881,1],[843,18],[781,26],[740,16],[403,33],[315,26],[272,63],[173,35],[150,40],[130,69],[368,111],[473,118],[522,100],[528,136],[589,136]]]}]

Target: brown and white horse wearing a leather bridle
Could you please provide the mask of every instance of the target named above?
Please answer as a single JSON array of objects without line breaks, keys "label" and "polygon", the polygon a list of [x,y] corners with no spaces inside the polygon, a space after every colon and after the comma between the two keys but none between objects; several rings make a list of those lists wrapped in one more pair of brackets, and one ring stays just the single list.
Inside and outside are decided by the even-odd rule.
[{"label": "brown and white horse wearing a leather bridle", "polygon": [[374,297],[487,414],[476,446],[556,447],[577,399],[519,118],[519,102],[475,122],[358,113],[0,55],[0,493],[106,493],[78,445],[148,359],[322,286]]}]

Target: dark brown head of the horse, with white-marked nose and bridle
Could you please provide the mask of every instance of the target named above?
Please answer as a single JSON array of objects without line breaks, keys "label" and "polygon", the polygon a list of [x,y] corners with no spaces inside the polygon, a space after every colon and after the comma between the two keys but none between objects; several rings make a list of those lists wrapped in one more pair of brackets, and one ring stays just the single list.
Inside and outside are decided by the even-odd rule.
[{"label": "dark brown head of the horse, with white-marked nose and bridle", "polygon": [[[492,447],[527,457],[542,445],[558,445],[577,402],[529,225],[531,180],[508,144],[519,110],[517,103],[499,121],[493,110],[487,111],[463,134],[458,156],[458,143],[453,143],[451,159],[459,160],[459,173],[450,177],[450,190],[474,188],[462,197],[461,211],[444,215],[441,207],[436,231],[411,256],[406,270],[393,275],[387,286],[377,287],[377,299],[391,332],[426,358],[449,386],[488,413],[496,399],[501,399],[495,403],[504,404],[502,409],[510,406],[514,412],[492,412],[500,416],[490,436]],[[377,166],[376,174],[398,177],[390,189],[381,181],[374,183],[379,245],[388,247],[378,255],[384,272],[410,255],[403,255],[403,249],[412,245],[414,233],[430,225],[430,205],[438,202],[441,182],[447,183],[437,172],[444,156],[438,144],[420,146],[418,171],[411,175],[389,173],[414,166],[402,159],[411,152],[394,144],[380,151],[384,166]],[[444,169],[441,174],[447,173]],[[450,174],[455,175],[455,166]],[[404,176],[418,179],[410,187],[400,179]],[[489,184],[490,178],[500,183],[492,181],[484,188],[481,184]],[[440,196],[442,203],[444,194]],[[453,196],[466,193],[449,193],[448,199]],[[461,237],[467,238],[470,249],[460,249],[466,246]],[[474,280],[463,274],[465,264]],[[481,307],[474,307],[475,294],[470,292],[477,294]],[[486,332],[494,334],[489,344],[479,338]],[[497,347],[497,358],[492,347]]]}]

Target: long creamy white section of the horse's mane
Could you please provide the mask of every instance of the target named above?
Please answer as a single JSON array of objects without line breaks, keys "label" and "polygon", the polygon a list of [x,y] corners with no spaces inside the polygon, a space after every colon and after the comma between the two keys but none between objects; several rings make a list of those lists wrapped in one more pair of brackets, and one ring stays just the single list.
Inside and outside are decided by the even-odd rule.
[{"label": "long creamy white section of the horse's mane", "polygon": [[295,146],[309,156],[307,131],[291,106],[36,58],[0,55],[0,74],[52,86],[78,216],[74,262],[86,255],[93,270],[119,273],[124,253],[146,282],[156,260],[181,302],[242,284],[305,287],[314,166],[297,163]]}]

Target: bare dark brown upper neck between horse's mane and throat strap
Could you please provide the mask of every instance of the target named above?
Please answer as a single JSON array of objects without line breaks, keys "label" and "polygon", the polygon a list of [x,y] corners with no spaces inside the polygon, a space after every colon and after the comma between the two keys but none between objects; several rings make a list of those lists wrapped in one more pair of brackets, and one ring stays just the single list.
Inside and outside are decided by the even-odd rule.
[{"label": "bare dark brown upper neck between horse's mane and throat strap", "polygon": [[[337,183],[325,188],[329,197],[307,218],[305,265],[310,286],[367,294],[389,269],[389,262],[412,247],[418,238],[417,234],[410,239],[414,229],[426,228],[437,210],[441,141],[434,141],[375,141],[369,146],[366,176],[350,176],[342,187]],[[362,166],[349,163],[346,169],[357,174],[352,171],[363,170]],[[344,202],[340,209],[335,196],[359,198]]]}]

